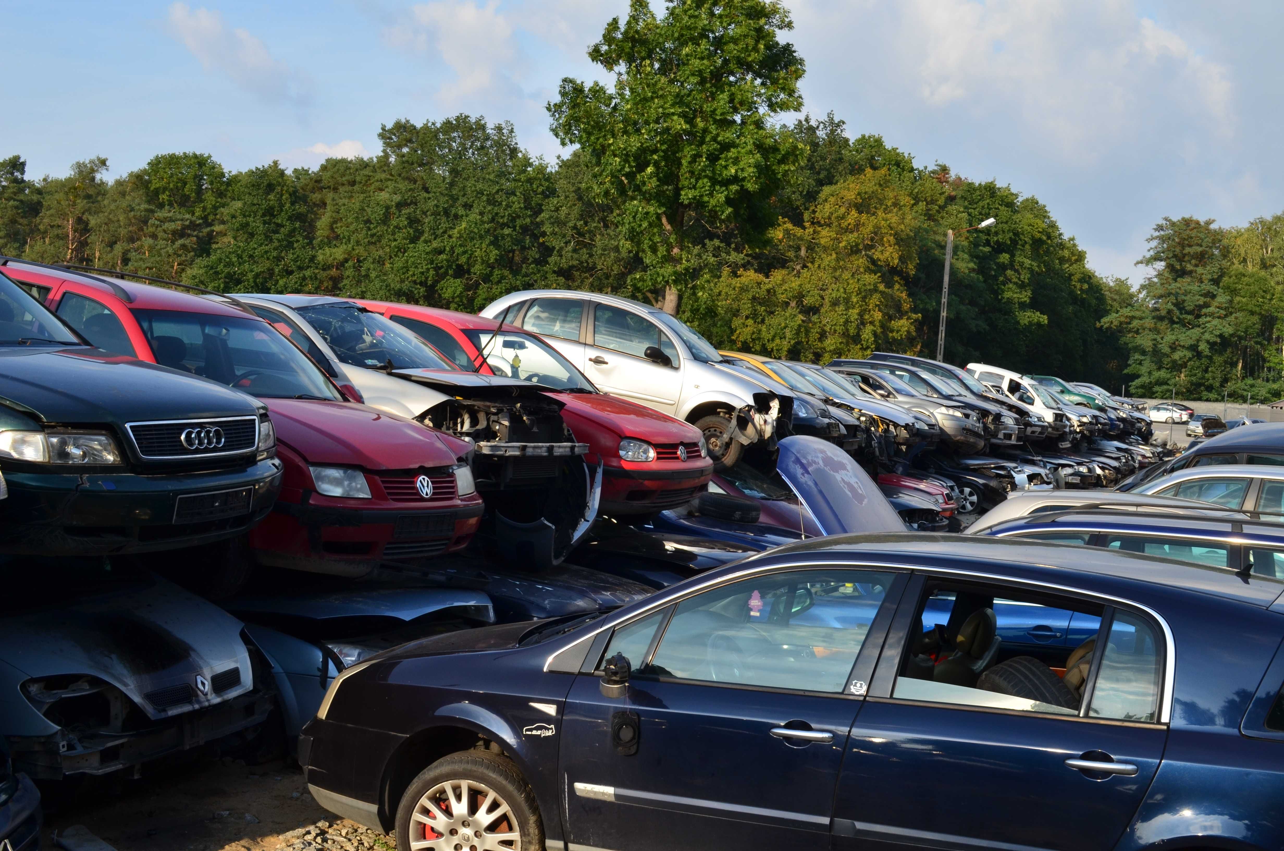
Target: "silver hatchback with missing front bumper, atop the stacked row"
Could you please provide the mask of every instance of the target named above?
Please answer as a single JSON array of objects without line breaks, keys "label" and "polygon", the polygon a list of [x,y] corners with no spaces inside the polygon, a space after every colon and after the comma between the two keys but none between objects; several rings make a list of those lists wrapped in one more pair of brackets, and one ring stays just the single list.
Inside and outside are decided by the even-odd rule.
[{"label": "silver hatchback with missing front bumper, atop the stacked row", "polygon": [[794,397],[783,384],[727,363],[698,333],[632,298],[528,289],[482,309],[541,334],[607,393],[695,424],[722,467],[746,446],[772,446]]}]

